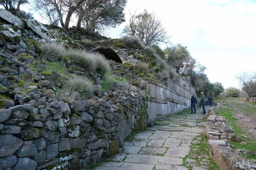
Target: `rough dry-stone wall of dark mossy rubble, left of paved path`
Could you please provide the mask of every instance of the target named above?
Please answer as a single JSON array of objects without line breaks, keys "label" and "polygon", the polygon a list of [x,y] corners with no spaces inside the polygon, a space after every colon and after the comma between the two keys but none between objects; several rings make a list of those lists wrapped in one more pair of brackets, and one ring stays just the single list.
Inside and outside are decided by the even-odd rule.
[{"label": "rough dry-stone wall of dark mossy rubble, left of paved path", "polygon": [[116,83],[104,97],[84,101],[31,89],[29,100],[5,100],[0,109],[0,169],[80,169],[123,152],[124,138],[146,126],[134,86]]}]

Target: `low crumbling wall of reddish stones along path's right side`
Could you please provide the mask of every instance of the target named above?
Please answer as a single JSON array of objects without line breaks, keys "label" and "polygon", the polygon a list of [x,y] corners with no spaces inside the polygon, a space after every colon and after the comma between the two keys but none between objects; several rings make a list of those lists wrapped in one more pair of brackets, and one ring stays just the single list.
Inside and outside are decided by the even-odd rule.
[{"label": "low crumbling wall of reddish stones along path's right side", "polygon": [[[248,152],[243,149],[232,150],[228,142],[243,142],[231,127],[225,124],[225,119],[214,113],[213,107],[207,110],[205,114],[205,135],[210,148],[210,155],[220,167],[220,170],[250,170],[256,169],[256,164],[245,159],[239,154]],[[252,152],[252,151],[251,151]]]}]

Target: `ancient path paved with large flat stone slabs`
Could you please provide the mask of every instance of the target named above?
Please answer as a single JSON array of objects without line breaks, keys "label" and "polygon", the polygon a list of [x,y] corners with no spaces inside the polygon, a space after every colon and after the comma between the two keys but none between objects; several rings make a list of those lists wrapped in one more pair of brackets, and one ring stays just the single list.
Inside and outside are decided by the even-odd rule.
[{"label": "ancient path paved with large flat stone slabs", "polygon": [[[192,140],[204,131],[204,115],[180,113],[157,120],[156,125],[124,142],[124,153],[103,162],[97,170],[188,170],[183,159]],[[194,170],[204,168],[193,166]]]}]

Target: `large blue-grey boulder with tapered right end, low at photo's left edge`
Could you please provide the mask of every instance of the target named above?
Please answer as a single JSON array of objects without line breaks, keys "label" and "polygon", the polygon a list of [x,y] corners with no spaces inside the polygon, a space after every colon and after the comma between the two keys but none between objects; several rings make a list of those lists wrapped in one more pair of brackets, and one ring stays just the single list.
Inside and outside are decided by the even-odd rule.
[{"label": "large blue-grey boulder with tapered right end, low at photo's left edge", "polygon": [[20,138],[10,134],[0,135],[0,157],[12,155],[22,144],[23,141]]}]

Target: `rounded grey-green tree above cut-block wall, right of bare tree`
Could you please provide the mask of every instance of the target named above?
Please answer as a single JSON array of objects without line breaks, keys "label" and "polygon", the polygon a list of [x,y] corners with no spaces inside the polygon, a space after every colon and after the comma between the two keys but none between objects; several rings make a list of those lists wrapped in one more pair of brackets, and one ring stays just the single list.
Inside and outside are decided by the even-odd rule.
[{"label": "rounded grey-green tree above cut-block wall, right of bare tree", "polygon": [[181,44],[165,48],[164,53],[167,63],[182,76],[188,76],[197,67],[196,60],[190,55],[187,47]]}]

